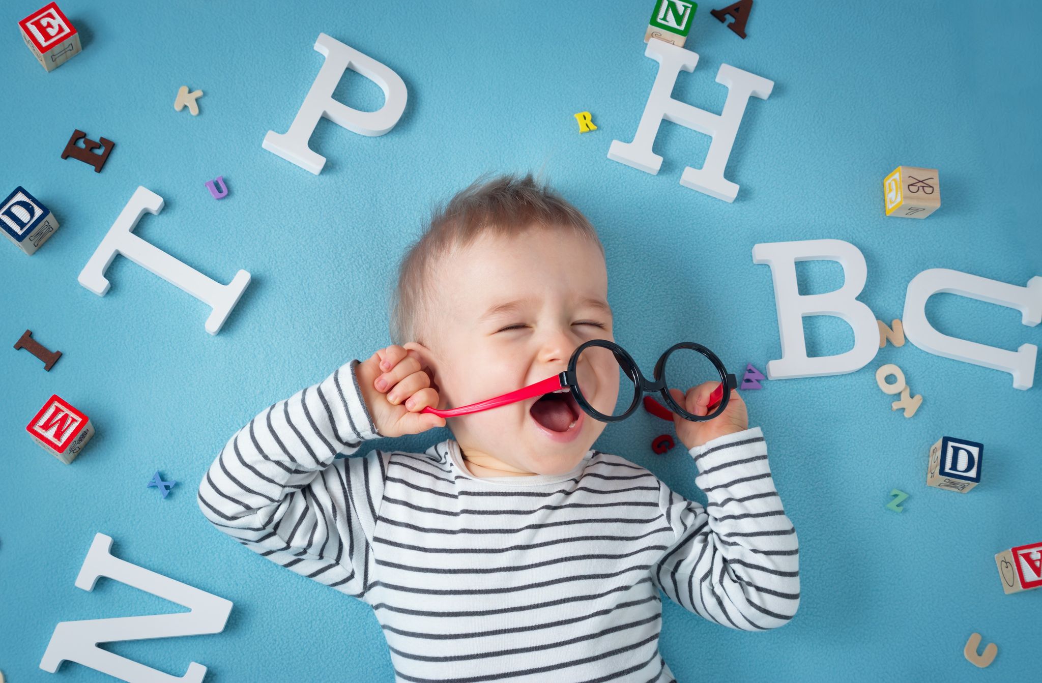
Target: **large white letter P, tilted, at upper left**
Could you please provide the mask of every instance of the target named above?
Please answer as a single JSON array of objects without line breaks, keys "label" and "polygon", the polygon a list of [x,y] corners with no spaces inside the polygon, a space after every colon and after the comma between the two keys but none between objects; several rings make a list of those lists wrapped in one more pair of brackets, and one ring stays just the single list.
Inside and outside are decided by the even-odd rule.
[{"label": "large white letter P, tilted, at upper left", "polygon": [[[325,117],[359,135],[382,135],[398,123],[405,110],[405,82],[389,67],[362,54],[325,33],[319,33],[315,49],[325,55],[325,62],[312,83],[304,103],[290,125],[290,130],[276,133],[269,130],[263,147],[283,159],[306,169],[315,175],[325,166],[325,157],[312,151],[307,141]],[[376,111],[359,111],[332,99],[337,84],[348,69],[356,71],[383,91],[383,106]]]}]

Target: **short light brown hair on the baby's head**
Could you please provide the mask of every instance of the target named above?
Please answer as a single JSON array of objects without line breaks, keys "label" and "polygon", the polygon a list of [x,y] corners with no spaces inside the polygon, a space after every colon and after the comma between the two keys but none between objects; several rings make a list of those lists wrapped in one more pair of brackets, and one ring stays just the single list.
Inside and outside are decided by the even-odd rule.
[{"label": "short light brown hair on the baby's head", "polygon": [[436,204],[423,234],[406,249],[391,295],[393,344],[418,342],[430,347],[427,335],[435,323],[430,312],[437,305],[431,283],[436,277],[447,277],[445,265],[451,254],[481,234],[516,237],[532,226],[570,230],[596,244],[603,256],[604,246],[593,224],[531,173],[523,178],[489,176],[479,176],[448,204]]}]

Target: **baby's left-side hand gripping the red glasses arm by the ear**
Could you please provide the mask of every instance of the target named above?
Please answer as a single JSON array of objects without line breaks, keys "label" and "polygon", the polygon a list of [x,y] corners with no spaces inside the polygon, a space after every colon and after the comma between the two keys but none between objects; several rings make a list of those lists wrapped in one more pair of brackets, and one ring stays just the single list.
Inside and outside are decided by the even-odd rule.
[{"label": "baby's left-side hand gripping the red glasses arm by the ear", "polygon": [[419,434],[445,426],[444,418],[420,412],[426,406],[437,408],[439,399],[415,351],[406,351],[398,345],[380,349],[357,364],[355,375],[366,407],[380,434]]}]

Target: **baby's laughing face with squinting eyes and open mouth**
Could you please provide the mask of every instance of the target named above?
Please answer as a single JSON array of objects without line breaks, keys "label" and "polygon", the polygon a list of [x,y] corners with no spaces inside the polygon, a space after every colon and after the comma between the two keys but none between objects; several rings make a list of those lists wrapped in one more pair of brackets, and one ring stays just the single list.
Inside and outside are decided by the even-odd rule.
[{"label": "baby's laughing face with squinting eyes and open mouth", "polygon": [[[612,339],[607,269],[600,250],[570,231],[539,227],[507,239],[482,235],[457,252],[439,278],[441,317],[438,356],[428,357],[440,389],[440,408],[458,407],[527,386],[568,369],[572,352],[588,339]],[[516,302],[512,307],[502,304]],[[599,305],[598,305],[599,304]],[[611,354],[602,366],[576,369],[587,400],[611,412],[619,370]],[[540,425],[526,399],[449,418],[448,427],[469,460],[492,462],[510,474],[561,474],[572,470],[603,431],[578,412],[574,426]],[[562,425],[563,426],[563,425]]]}]

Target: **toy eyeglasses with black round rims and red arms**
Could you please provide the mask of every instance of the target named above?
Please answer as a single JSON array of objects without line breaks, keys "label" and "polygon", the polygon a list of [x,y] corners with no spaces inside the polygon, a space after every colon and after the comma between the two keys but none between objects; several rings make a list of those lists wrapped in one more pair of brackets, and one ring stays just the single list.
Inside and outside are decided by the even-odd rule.
[{"label": "toy eyeglasses with black round rims and red arms", "polygon": [[[596,396],[596,390],[599,388],[599,383],[594,377],[593,369],[611,368],[613,364],[617,365],[619,370],[618,399],[614,408],[601,405],[602,409],[610,410],[610,412],[603,412],[588,401],[588,397],[593,398]],[[713,420],[724,411],[727,407],[727,402],[730,400],[730,389],[735,388],[738,384],[735,376],[727,373],[727,370],[715,353],[694,342],[680,342],[670,347],[659,358],[659,362],[655,363],[653,377],[654,381],[652,382],[645,379],[644,375],[641,374],[640,368],[637,365],[637,361],[626,353],[625,349],[615,342],[609,339],[590,339],[584,342],[572,353],[568,361],[568,370],[553,377],[548,377],[515,391],[503,394],[502,396],[486,399],[485,401],[478,401],[477,403],[458,408],[438,409],[426,406],[420,412],[432,412],[441,418],[455,418],[524,401],[525,399],[565,388],[570,390],[575,402],[588,415],[601,422],[625,420],[637,409],[641,397],[651,391],[659,391],[666,406],[685,420],[704,422]],[[720,385],[710,396],[708,407],[712,410],[704,415],[696,415],[688,412],[669,393],[670,384],[674,388],[687,391],[691,386],[712,380],[719,380]],[[724,390],[724,386],[727,387],[726,391]],[[584,389],[586,390],[584,391]]]}]

